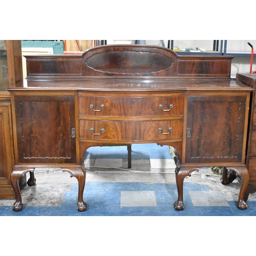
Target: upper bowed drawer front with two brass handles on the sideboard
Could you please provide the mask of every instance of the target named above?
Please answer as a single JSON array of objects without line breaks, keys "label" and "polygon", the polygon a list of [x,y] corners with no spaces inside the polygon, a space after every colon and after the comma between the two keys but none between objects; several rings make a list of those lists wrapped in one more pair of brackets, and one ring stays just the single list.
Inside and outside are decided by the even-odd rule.
[{"label": "upper bowed drawer front with two brass handles on the sideboard", "polygon": [[99,117],[164,117],[183,115],[183,96],[79,97],[79,114]]}]

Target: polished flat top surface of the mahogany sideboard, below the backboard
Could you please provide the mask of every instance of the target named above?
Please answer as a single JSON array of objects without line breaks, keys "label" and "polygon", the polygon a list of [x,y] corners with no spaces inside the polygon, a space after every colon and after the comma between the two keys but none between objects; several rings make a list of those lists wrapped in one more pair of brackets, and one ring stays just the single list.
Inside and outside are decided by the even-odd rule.
[{"label": "polished flat top surface of the mahogany sideboard, below the backboard", "polygon": [[84,79],[84,80],[35,80],[28,81],[28,87],[9,88],[9,91],[33,90],[75,90],[75,91],[120,91],[120,92],[147,92],[147,91],[251,91],[250,87],[233,80],[200,80],[200,79]]}]

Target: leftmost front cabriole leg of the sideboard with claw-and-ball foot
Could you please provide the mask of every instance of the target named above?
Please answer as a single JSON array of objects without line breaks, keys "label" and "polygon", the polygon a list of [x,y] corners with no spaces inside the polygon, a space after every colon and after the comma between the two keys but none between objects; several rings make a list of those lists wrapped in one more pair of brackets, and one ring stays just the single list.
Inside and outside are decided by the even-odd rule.
[{"label": "leftmost front cabriole leg of the sideboard with claw-and-ball foot", "polygon": [[28,172],[34,172],[34,169],[24,169],[24,168],[14,169],[11,173],[11,185],[16,196],[16,201],[12,206],[12,209],[14,211],[21,211],[23,208],[22,195],[20,194],[18,179],[24,176]]}]

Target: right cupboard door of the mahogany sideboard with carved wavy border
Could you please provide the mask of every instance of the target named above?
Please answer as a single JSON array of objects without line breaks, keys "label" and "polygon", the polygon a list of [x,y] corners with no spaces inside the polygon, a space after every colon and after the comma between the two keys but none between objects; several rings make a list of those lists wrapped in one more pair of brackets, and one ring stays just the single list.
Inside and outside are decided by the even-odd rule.
[{"label": "right cupboard door of the mahogany sideboard with carved wavy border", "polygon": [[186,163],[243,163],[245,110],[246,96],[188,96]]}]

